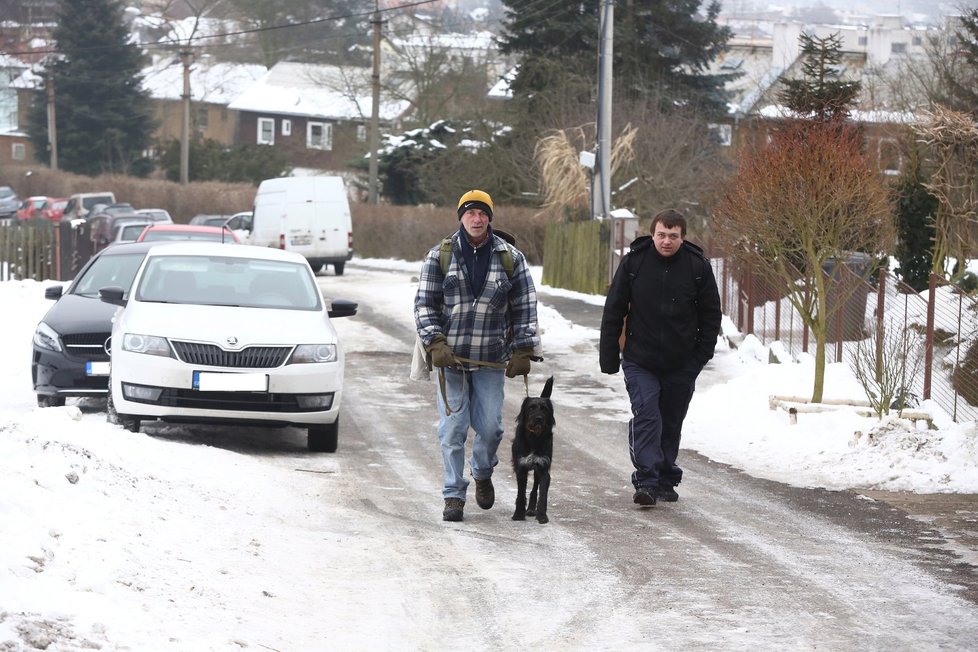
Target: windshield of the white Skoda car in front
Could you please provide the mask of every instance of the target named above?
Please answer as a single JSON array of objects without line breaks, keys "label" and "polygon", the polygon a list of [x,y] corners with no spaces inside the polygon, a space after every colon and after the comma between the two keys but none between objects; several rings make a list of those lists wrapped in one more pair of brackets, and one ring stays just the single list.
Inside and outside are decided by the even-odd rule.
[{"label": "windshield of the white Skoda car in front", "polygon": [[136,290],[139,301],[208,306],[322,310],[309,266],[231,256],[153,256]]}]

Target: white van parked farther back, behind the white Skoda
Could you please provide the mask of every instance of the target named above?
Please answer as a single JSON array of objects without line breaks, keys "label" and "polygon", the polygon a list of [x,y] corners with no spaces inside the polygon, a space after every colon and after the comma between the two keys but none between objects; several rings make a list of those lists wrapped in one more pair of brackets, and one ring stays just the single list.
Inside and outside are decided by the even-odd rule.
[{"label": "white van parked farther back, behind the white Skoda", "polygon": [[252,214],[227,226],[241,242],[302,254],[313,271],[332,265],[343,274],[353,258],[353,220],[340,177],[282,177],[258,186]]}]

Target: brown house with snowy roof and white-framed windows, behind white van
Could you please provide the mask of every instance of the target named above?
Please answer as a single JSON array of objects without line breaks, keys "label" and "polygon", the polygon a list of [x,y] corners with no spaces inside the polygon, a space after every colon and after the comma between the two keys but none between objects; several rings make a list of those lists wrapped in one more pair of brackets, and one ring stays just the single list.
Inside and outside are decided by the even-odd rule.
[{"label": "brown house with snowy roof and white-framed windows, behind white van", "polygon": [[[238,95],[237,141],[283,150],[296,167],[339,170],[367,152],[372,69],[283,61]],[[408,100],[381,93],[379,121],[398,129]]]}]

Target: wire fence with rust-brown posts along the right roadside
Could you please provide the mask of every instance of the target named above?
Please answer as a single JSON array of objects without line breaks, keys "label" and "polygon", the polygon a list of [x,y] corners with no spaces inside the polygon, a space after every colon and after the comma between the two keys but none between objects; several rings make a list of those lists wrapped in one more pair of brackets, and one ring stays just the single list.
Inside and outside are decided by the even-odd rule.
[{"label": "wire fence with rust-brown posts along the right roadside", "polygon": [[[723,312],[764,345],[780,342],[792,355],[815,354],[815,338],[784,287],[730,258],[714,258]],[[978,419],[978,300],[932,275],[917,292],[885,270],[868,281],[845,266],[826,279],[826,362],[851,363],[859,347],[882,348],[877,333],[913,333],[920,371],[906,379],[911,399],[930,399],[954,421]]]}]

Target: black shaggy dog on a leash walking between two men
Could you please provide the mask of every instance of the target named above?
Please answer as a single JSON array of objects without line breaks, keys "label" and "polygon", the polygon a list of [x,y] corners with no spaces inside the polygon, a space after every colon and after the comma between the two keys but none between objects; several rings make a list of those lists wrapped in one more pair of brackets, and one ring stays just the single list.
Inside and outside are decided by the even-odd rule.
[{"label": "black shaggy dog on a leash walking between two men", "polygon": [[[547,491],[550,489],[550,460],[554,452],[554,406],[550,392],[554,386],[551,376],[543,386],[540,398],[523,399],[520,413],[516,415],[516,434],[513,436],[513,471],[516,472],[516,511],[514,521],[526,520],[526,515],[536,516],[538,523],[546,523]],[[526,504],[526,478],[533,470],[533,489],[530,504]],[[540,490],[539,495],[537,489]]]}]

